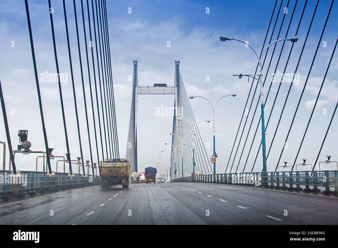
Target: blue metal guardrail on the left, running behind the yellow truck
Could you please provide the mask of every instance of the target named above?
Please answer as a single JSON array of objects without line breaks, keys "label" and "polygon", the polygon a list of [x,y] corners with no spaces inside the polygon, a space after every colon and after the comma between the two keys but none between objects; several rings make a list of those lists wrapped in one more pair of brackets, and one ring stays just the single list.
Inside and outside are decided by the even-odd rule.
[{"label": "blue metal guardrail on the left, running behind the yellow truck", "polygon": [[[35,194],[35,192],[57,191],[101,183],[99,176],[56,172],[20,171],[20,176],[11,176],[11,170],[0,170],[0,198],[9,195]],[[13,175],[13,174],[12,174]]]}]

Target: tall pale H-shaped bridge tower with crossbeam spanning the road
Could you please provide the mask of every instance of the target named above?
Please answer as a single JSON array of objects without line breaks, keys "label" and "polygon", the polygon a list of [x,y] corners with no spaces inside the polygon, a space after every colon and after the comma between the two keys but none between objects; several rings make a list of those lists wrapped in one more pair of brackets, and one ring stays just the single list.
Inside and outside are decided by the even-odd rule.
[{"label": "tall pale H-shaped bridge tower with crossbeam spanning the road", "polygon": [[[179,87],[180,87],[180,74],[179,74],[179,60],[175,60],[175,81],[174,85],[166,85],[162,83],[158,83],[155,85],[146,85],[140,86],[138,83],[138,72],[137,72],[137,60],[133,60],[133,77],[132,77],[132,97],[131,97],[131,109],[130,109],[130,119],[129,119],[129,132],[128,132],[128,143],[127,143],[127,151],[126,158],[130,162],[130,173],[133,171],[138,171],[137,166],[137,105],[138,105],[138,95],[139,94],[173,94],[175,95],[174,102],[174,116],[173,116],[173,134],[177,134],[178,136],[183,138],[182,131],[182,123],[178,121],[177,118],[182,118],[181,109],[182,109],[182,98],[179,95]],[[172,145],[174,147],[177,146],[175,151],[174,147],[171,147],[171,153],[176,159],[171,159],[171,165],[173,165],[174,171],[172,171],[171,178],[181,177],[182,171],[185,164],[183,160],[184,154],[184,145],[180,138],[176,135],[172,135]],[[179,150],[179,152],[177,152]],[[176,166],[175,166],[176,165]],[[185,175],[186,176],[186,175]]]}]

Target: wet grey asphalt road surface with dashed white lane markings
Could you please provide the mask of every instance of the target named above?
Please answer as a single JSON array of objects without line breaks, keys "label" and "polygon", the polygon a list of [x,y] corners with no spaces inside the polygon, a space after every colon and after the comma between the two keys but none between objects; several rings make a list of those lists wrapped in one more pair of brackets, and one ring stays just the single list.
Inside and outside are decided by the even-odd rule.
[{"label": "wet grey asphalt road surface with dashed white lane markings", "polygon": [[1,224],[336,224],[338,199],[207,183],[91,186],[0,201]]}]

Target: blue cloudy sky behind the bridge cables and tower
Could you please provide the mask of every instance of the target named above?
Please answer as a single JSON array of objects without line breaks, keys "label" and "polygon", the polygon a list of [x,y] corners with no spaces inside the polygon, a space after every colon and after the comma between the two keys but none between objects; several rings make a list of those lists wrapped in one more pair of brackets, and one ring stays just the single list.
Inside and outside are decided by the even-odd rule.
[{"label": "blue cloudy sky behind the bridge cables and tower", "polygon": [[[48,1],[30,0],[28,2],[38,74],[46,71],[54,73],[56,72],[56,67],[50,29]],[[240,73],[254,74],[257,58],[252,50],[246,48],[244,44],[236,41],[221,43],[218,38],[222,35],[248,41],[259,52],[264,42],[274,4],[275,1],[243,0],[213,1],[212,3],[207,1],[107,1],[120,157],[125,157],[127,146],[132,90],[131,81],[128,81],[128,77],[129,75],[132,75],[132,60],[138,60],[139,85],[152,85],[154,83],[173,85],[174,62],[175,60],[180,60],[180,73],[184,80],[188,95],[201,95],[216,100],[224,94],[237,94],[236,98],[222,99],[216,106],[217,173],[224,173],[251,85],[251,81],[248,82],[246,78],[238,79],[232,75]],[[272,26],[276,20],[277,13],[279,12],[276,28],[272,35],[272,40],[277,39],[277,34],[284,15],[283,11],[287,4],[287,0],[284,0],[282,4],[281,0],[277,1],[268,39],[271,36]],[[288,36],[294,36],[304,4],[304,0],[299,0],[297,2]],[[286,134],[308,76],[312,58],[319,42],[330,4],[331,1],[320,1],[318,5],[297,71],[299,73],[299,83],[294,84],[291,88],[283,118],[267,161],[268,171],[274,170],[283,148]],[[86,1],[84,2],[84,5],[84,11],[86,13]],[[280,5],[281,10],[279,11]],[[299,40],[295,43],[292,50],[286,73],[293,73],[295,70],[315,5],[316,1],[310,0],[307,3],[297,35]],[[287,9],[288,13],[285,15],[280,37],[285,36],[294,6],[295,1],[289,1]],[[62,86],[62,91],[64,95],[70,152],[72,158],[75,158],[79,156],[80,153],[62,1],[52,0],[52,7],[54,8],[53,20],[60,72],[68,74],[68,83]],[[66,1],[66,7],[83,153],[84,158],[90,160],[72,1]],[[128,13],[128,8],[131,8],[131,13]],[[83,38],[80,1],[76,1],[76,9],[87,106],[91,108],[84,49],[86,43]],[[209,13],[207,13],[208,9]],[[318,53],[309,75],[303,98],[293,123],[293,128],[288,139],[288,146],[287,149],[284,150],[280,165],[283,164],[283,161],[288,161],[292,164],[295,159],[320,84],[323,80],[323,76],[336,43],[338,34],[336,28],[337,19],[338,6],[334,3],[327,27],[325,28],[322,40],[320,41]],[[87,37],[89,37],[87,18],[85,18],[85,22]],[[13,148],[16,148],[16,145],[18,144],[19,137],[17,136],[17,131],[26,129],[28,130],[28,140],[32,143],[31,149],[44,150],[42,125],[37,89],[35,86],[24,1],[1,1],[0,34],[0,79],[3,87]],[[89,38],[87,39],[89,40]],[[13,41],[15,44],[14,47],[11,46]],[[168,42],[170,42],[170,47],[167,46]],[[279,64],[276,67],[281,48],[282,42],[276,45],[268,72],[266,71],[266,68],[268,62],[270,62],[273,49],[269,49],[266,57],[265,70],[263,70],[264,76],[267,77],[266,85],[264,87],[266,93],[270,86],[271,74],[274,72],[275,68],[277,72],[279,71],[281,73],[284,70],[291,48],[291,42],[285,43]],[[337,70],[338,59],[335,54],[312,117],[309,130],[300,150],[298,162],[301,162],[302,158],[307,158],[307,162],[314,163],[317,157],[320,144],[338,100],[338,81],[335,77]],[[93,74],[93,71],[91,71],[91,74]],[[207,75],[209,75],[210,81],[206,80]],[[91,77],[93,78],[93,75],[91,75]],[[272,83],[265,107],[266,121],[269,118],[278,86],[279,82]],[[278,94],[276,105],[273,109],[271,120],[266,131],[267,149],[270,148],[270,142],[289,86],[289,82],[283,82]],[[66,153],[66,144],[58,85],[55,82],[41,82],[40,87],[48,142],[50,143],[50,146],[54,147],[53,154],[55,156],[64,156]],[[252,89],[249,97],[249,104],[252,97],[254,97],[253,107],[248,116],[244,115],[243,122],[246,117],[248,117],[247,124],[244,129],[242,141],[239,145],[238,154],[234,161],[234,166],[237,167],[243,144],[249,131],[252,115],[255,114],[248,135],[248,141],[244,147],[243,157],[239,164],[240,171],[243,169],[246,155],[248,154],[260,117],[260,108],[258,107],[256,112],[254,111],[259,98],[259,89],[254,96],[252,95],[253,91],[254,89]],[[93,92],[93,94],[95,93]],[[190,100],[190,103],[197,121],[203,119],[212,120],[212,109],[206,101],[203,99],[193,99]],[[172,131],[172,117],[155,116],[155,109],[156,107],[161,107],[161,105],[164,107],[172,107],[173,104],[173,95],[139,95],[137,126],[139,148],[138,165],[140,171],[148,166],[157,166],[158,162],[165,163],[165,160],[159,159],[159,156],[167,156],[167,154],[162,153],[161,150],[170,150],[170,147],[166,146],[164,143],[171,142],[169,133]],[[94,104],[94,114],[97,117],[95,109],[96,105]],[[95,151],[96,144],[92,115],[90,115],[89,125],[91,129],[92,148]],[[338,132],[336,127],[337,117],[333,120],[331,130],[324,143],[319,161],[323,161],[327,154],[332,155],[333,160],[337,160]],[[206,145],[207,142],[212,144],[212,123],[203,123],[199,128],[204,144]],[[239,135],[242,133],[242,129],[243,123]],[[3,122],[0,122],[0,130],[0,140],[6,141]],[[248,158],[247,166],[249,166],[249,170],[251,170],[255,160],[260,137],[259,126],[258,134],[256,135],[252,151]],[[237,148],[237,145],[238,141],[236,142],[235,149]],[[208,156],[212,155],[212,146],[207,149],[207,153]],[[261,156],[261,153],[259,153],[254,171],[261,171],[262,169]],[[33,155],[17,155],[17,169],[35,170],[35,158],[36,157]],[[230,165],[233,163],[233,158],[234,154],[230,160]],[[6,169],[8,169],[8,159],[9,156],[7,152]],[[93,160],[97,162],[96,156],[94,156]],[[42,161],[39,162],[38,166],[38,170],[42,170]],[[53,170],[56,169],[55,166],[55,161],[52,161]],[[332,166],[333,165],[321,167],[321,169],[333,169]],[[74,166],[73,170],[77,171],[77,168]],[[58,171],[60,171],[59,168]],[[227,170],[227,172],[228,171],[229,170]]]}]

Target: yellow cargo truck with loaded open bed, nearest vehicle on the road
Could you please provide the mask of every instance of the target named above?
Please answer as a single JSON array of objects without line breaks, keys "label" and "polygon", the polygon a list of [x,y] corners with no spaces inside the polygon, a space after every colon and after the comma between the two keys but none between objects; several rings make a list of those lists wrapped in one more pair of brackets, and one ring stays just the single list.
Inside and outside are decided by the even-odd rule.
[{"label": "yellow cargo truck with loaded open bed, nearest vehicle on the road", "polygon": [[129,188],[129,161],[127,159],[106,159],[100,162],[102,190],[107,190],[110,185],[122,185],[123,189]]}]

